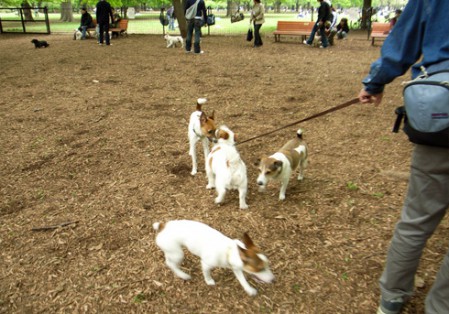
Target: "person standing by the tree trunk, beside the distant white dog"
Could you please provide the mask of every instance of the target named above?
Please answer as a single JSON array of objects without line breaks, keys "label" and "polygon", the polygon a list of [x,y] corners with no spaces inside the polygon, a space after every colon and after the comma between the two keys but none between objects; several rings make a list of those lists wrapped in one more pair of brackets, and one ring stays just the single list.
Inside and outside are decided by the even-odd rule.
[{"label": "person standing by the tree trunk, beside the distant white dog", "polygon": [[186,52],[191,52],[193,31],[195,31],[193,52],[202,54],[204,51],[200,47],[201,27],[206,23],[207,19],[204,0],[187,0],[184,13],[187,21]]}]

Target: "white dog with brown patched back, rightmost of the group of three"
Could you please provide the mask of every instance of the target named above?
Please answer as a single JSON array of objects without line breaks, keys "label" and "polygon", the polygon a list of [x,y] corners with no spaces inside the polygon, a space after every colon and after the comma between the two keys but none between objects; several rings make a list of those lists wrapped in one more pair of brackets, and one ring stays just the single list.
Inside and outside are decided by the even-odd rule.
[{"label": "white dog with brown patched back, rightmost of the group of three", "polygon": [[263,157],[256,164],[259,167],[257,184],[260,190],[264,190],[268,181],[281,181],[279,199],[285,199],[290,176],[296,168],[299,168],[298,180],[304,179],[304,169],[307,167],[307,145],[302,138],[303,131],[296,132],[296,138],[288,141],[275,154]]}]

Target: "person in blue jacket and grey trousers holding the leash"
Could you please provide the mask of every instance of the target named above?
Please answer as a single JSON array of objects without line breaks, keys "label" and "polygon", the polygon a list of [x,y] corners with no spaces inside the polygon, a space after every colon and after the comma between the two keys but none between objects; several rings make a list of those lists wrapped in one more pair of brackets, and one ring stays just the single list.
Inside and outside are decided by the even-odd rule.
[{"label": "person in blue jacket and grey trousers holding the leash", "polygon": [[[429,73],[449,69],[447,12],[449,1],[409,0],[383,44],[381,57],[371,64],[363,80],[360,102],[380,104],[385,84],[410,67],[412,77],[420,74],[421,66]],[[449,139],[442,141],[449,145]],[[448,207],[449,148],[416,144],[407,195],[379,280],[381,301],[377,313],[401,312],[413,294],[414,276],[426,242]],[[449,252],[426,297],[425,312],[449,313]]]}]

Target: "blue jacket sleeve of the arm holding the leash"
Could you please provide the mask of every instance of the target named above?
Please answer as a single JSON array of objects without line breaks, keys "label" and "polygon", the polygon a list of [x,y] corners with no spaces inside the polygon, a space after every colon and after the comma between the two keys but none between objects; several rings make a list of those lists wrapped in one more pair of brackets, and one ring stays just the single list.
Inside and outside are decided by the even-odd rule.
[{"label": "blue jacket sleeve of the arm holding the leash", "polygon": [[381,57],[371,64],[362,83],[370,94],[383,92],[385,84],[403,75],[421,57],[424,8],[421,0],[410,0],[401,18],[385,39]]}]

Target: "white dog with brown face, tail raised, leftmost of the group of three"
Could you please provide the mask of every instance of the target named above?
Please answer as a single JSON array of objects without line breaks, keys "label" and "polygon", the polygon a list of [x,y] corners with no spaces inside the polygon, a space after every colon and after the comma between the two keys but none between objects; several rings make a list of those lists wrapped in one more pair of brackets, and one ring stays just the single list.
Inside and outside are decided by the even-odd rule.
[{"label": "white dog with brown face, tail raised, leftmost of the group of three", "polygon": [[207,159],[209,154],[209,141],[212,141],[215,136],[215,121],[214,114],[207,116],[202,110],[201,106],[207,101],[206,98],[198,98],[196,104],[196,111],[192,112],[189,121],[189,143],[190,150],[189,155],[192,156],[192,172],[191,175],[194,176],[198,172],[198,163],[196,159],[196,143],[201,141],[204,151],[204,161]]}]

